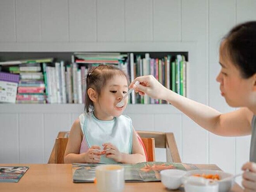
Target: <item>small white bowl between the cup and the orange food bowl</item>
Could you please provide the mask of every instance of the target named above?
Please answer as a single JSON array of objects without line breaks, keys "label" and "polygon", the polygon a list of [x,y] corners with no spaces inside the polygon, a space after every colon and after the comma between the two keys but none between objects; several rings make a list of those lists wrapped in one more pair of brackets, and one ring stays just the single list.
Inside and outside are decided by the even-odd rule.
[{"label": "small white bowl between the cup and the orange food bowl", "polygon": [[161,182],[168,189],[178,189],[182,185],[182,177],[186,174],[183,170],[160,171]]}]

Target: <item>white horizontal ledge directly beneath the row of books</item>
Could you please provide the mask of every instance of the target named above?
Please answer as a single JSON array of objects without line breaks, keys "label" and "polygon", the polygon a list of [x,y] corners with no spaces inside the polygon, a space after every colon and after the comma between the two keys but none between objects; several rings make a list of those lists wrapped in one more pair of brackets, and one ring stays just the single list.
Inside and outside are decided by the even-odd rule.
[{"label": "white horizontal ledge directly beneath the row of books", "polygon": [[[84,104],[0,104],[0,114],[6,113],[81,113]],[[181,113],[170,104],[128,104],[125,114]]]}]

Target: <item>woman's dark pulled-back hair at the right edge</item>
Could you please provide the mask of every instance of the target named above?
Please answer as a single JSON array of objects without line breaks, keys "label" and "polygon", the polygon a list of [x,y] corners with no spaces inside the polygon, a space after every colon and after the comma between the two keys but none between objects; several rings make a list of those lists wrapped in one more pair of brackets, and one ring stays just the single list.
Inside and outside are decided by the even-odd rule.
[{"label": "woman's dark pulled-back hair at the right edge", "polygon": [[224,37],[227,53],[243,78],[256,73],[256,21],[235,26]]}]

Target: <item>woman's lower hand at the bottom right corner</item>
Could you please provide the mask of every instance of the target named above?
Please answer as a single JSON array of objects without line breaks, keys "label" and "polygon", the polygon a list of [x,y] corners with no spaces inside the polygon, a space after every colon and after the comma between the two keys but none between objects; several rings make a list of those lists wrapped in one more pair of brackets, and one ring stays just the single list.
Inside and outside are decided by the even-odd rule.
[{"label": "woman's lower hand at the bottom right corner", "polygon": [[[244,192],[256,192],[256,163],[247,162],[242,166]],[[246,171],[248,170],[248,171]]]}]

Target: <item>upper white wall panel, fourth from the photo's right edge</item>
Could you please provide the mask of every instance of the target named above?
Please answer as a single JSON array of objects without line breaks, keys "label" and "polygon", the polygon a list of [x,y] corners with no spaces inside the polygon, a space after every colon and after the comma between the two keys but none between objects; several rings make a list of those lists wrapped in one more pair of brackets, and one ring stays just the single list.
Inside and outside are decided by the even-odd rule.
[{"label": "upper white wall panel, fourth from the photo's right edge", "polygon": [[154,42],[181,41],[181,0],[154,0],[153,21]]}]

